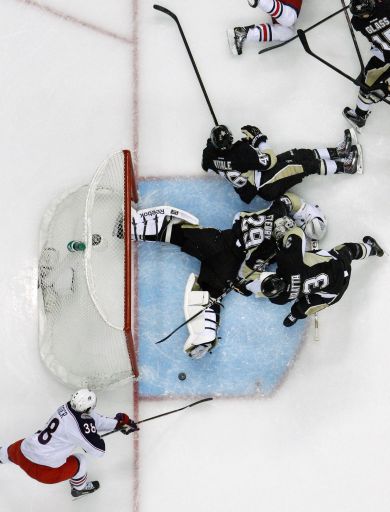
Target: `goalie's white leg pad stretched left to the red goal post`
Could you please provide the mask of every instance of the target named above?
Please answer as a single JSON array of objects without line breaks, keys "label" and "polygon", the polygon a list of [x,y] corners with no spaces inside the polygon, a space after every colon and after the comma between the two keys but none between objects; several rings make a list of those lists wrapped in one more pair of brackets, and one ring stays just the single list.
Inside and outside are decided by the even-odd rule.
[{"label": "goalie's white leg pad stretched left to the red goal post", "polygon": [[[144,240],[155,237],[155,240],[169,242],[173,224],[199,225],[199,219],[185,210],[173,206],[154,206],[143,210],[131,209],[131,239]],[[153,241],[150,240],[149,241]]]}]

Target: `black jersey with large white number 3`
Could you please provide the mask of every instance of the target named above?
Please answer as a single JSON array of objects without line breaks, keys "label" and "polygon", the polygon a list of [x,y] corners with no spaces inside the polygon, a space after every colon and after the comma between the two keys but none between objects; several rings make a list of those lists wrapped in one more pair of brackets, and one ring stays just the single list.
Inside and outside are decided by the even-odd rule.
[{"label": "black jersey with large white number 3", "polygon": [[276,262],[276,273],[287,283],[287,290],[270,300],[274,304],[295,300],[291,313],[296,318],[338,302],[349,284],[350,262],[335,251],[305,253],[305,235],[297,227],[285,235]]}]

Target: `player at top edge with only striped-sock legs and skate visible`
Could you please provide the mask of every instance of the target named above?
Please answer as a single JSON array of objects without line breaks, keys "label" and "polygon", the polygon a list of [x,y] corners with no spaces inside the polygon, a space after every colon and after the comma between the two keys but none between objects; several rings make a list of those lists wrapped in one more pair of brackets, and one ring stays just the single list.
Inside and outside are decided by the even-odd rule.
[{"label": "player at top edge with only striped-sock legs and skate visible", "polygon": [[258,43],[287,41],[295,35],[295,23],[301,11],[302,0],[248,0],[250,7],[259,8],[272,19],[272,24],[261,23],[235,27],[227,32],[234,55],[241,55],[245,41]]}]

